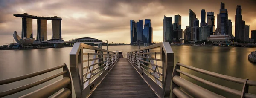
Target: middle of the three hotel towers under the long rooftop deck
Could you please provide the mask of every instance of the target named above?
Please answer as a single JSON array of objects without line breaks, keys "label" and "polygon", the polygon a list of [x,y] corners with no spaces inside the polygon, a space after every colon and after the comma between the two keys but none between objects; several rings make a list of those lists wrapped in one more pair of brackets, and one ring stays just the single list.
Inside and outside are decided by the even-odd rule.
[{"label": "middle of the three hotel towers under the long rooftop deck", "polygon": [[47,20],[37,19],[37,35],[36,38],[38,41],[47,40]]}]

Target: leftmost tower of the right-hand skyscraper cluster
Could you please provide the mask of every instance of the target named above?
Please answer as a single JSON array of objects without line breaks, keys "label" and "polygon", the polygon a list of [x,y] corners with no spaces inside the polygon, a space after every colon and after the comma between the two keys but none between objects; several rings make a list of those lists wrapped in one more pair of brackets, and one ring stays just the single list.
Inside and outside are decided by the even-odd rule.
[{"label": "leftmost tower of the right-hand skyscraper cluster", "polygon": [[172,17],[163,16],[163,41],[173,39]]}]

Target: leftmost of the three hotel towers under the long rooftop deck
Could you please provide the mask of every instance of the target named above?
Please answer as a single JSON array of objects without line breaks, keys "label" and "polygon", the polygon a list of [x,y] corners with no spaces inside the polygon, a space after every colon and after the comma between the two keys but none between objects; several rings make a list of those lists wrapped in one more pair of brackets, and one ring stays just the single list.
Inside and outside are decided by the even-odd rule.
[{"label": "leftmost of the three hotel towers under the long rooftop deck", "polygon": [[22,18],[22,28],[21,28],[21,38],[33,38],[33,26],[32,18],[23,17]]}]

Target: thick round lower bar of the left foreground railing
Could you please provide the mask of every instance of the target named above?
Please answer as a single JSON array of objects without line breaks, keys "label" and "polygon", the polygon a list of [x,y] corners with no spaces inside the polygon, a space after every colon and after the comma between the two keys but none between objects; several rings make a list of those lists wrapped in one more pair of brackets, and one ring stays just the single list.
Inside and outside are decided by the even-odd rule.
[{"label": "thick round lower bar of the left foreground railing", "polygon": [[68,84],[71,84],[71,79],[68,77],[64,77],[52,84],[44,86],[41,89],[38,89],[34,92],[21,96],[21,98],[47,98],[58,92],[60,89],[64,88]]}]

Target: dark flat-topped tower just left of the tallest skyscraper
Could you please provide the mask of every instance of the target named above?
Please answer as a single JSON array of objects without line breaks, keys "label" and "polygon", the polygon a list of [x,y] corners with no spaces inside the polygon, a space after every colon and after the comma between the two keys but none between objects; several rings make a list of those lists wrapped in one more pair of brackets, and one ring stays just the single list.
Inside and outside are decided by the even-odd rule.
[{"label": "dark flat-topped tower just left of the tallest skyscraper", "polygon": [[207,12],[206,26],[210,28],[211,35],[215,34],[215,16],[214,12]]}]

